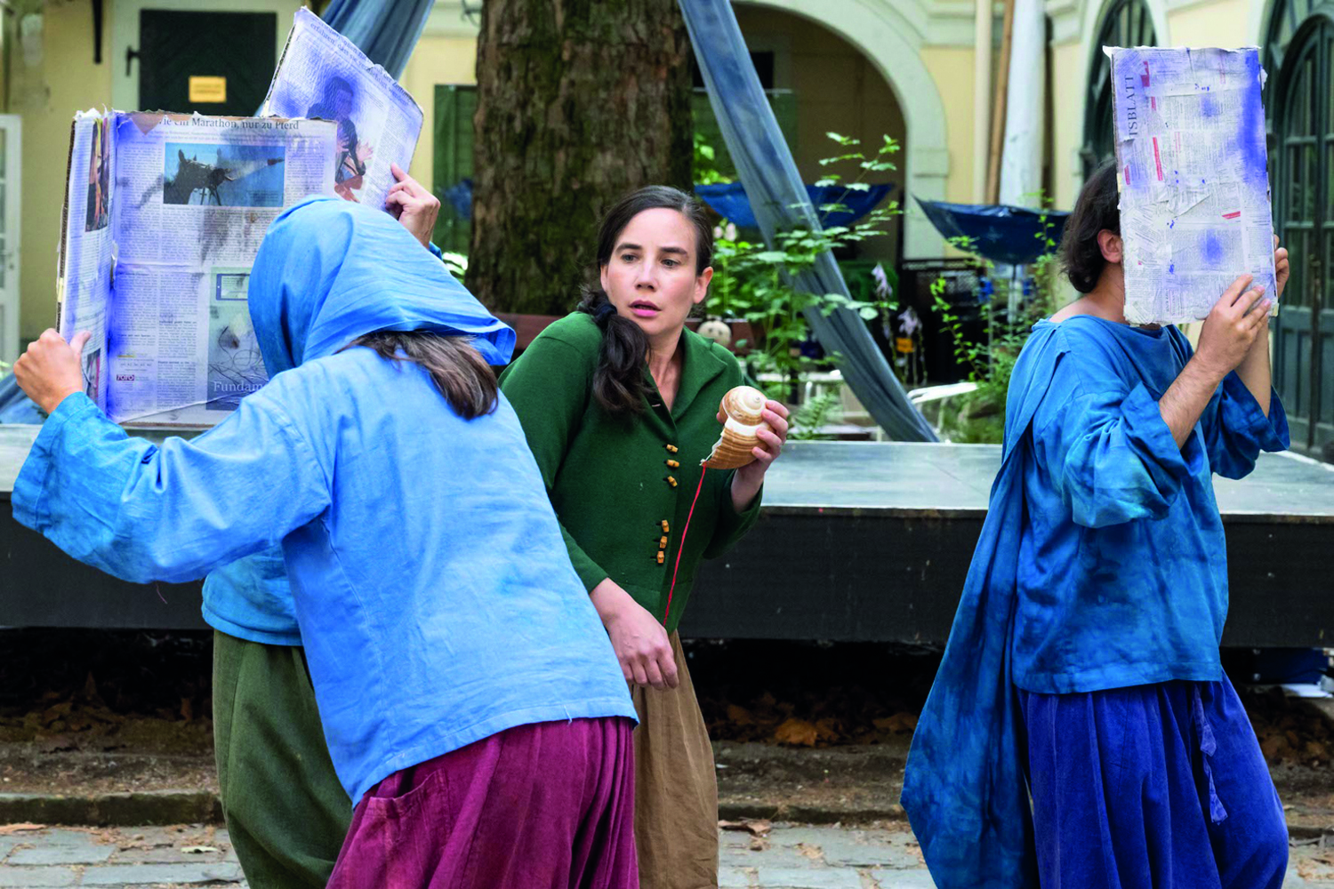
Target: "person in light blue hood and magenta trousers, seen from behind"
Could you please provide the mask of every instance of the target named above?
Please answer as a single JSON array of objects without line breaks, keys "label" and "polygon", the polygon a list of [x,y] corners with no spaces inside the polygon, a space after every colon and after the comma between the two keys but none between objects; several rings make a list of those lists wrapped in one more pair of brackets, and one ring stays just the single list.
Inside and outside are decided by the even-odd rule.
[{"label": "person in light blue hood and magenta trousers, seen from behind", "polygon": [[635,885],[635,712],[488,367],[514,332],[327,197],[269,228],[249,311],[269,384],[160,446],[83,395],[77,337],[33,343],[16,520],[137,582],[281,545],[356,801],[331,886]]}]

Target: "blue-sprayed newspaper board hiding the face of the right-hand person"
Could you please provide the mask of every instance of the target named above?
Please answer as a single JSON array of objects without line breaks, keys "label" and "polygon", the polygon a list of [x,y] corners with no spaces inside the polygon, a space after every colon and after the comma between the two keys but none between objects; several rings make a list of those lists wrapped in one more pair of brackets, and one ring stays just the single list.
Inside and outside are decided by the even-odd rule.
[{"label": "blue-sprayed newspaper board hiding the face of the right-hand person", "polygon": [[1195,321],[1238,275],[1277,297],[1259,51],[1111,56],[1126,320]]}]

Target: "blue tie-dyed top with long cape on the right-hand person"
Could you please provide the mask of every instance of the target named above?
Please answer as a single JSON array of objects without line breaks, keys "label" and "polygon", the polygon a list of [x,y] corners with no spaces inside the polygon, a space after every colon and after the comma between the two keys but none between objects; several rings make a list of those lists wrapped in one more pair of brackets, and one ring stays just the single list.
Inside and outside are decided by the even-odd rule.
[{"label": "blue tie-dyed top with long cape on the right-hand person", "polygon": [[1017,688],[1217,680],[1227,561],[1211,474],[1287,446],[1230,375],[1183,448],[1158,400],[1191,351],[1175,328],[1091,316],[1034,327],[1010,381],[1000,472],[903,806],[940,889],[1037,886]]}]

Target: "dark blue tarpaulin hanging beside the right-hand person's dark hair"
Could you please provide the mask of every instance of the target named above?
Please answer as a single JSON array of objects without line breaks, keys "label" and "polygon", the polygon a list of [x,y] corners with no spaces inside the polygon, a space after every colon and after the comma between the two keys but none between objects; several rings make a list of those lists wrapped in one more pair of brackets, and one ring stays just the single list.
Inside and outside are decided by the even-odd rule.
[{"label": "dark blue tarpaulin hanging beside the right-hand person's dark hair", "polygon": [[1061,232],[1070,216],[1063,211],[1035,211],[1009,204],[947,204],[920,197],[918,205],[946,239],[966,237],[974,253],[1003,265],[1027,265],[1047,253],[1046,237],[1042,237],[1045,231],[1059,245]]}]

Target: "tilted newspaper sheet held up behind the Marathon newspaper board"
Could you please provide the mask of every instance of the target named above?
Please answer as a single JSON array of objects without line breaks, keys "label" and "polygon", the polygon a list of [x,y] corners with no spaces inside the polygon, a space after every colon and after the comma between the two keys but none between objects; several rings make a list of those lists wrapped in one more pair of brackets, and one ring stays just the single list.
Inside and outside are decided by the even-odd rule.
[{"label": "tilted newspaper sheet held up behind the Marathon newspaper board", "polygon": [[334,188],[376,208],[395,181],[390,164],[407,169],[422,135],[422,108],[412,96],[305,8],[296,11],[259,113],[336,121]]}]

